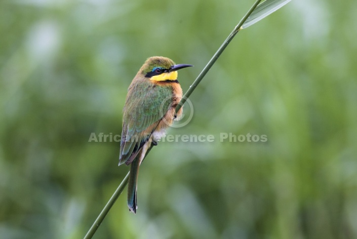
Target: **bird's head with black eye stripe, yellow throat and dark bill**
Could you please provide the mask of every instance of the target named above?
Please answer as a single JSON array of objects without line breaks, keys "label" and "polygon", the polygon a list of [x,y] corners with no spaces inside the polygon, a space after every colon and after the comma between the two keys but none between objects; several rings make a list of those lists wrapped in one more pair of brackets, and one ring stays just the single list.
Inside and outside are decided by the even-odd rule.
[{"label": "bird's head with black eye stripe, yellow throat and dark bill", "polygon": [[151,81],[176,81],[177,70],[189,66],[192,65],[176,65],[173,60],[167,57],[153,56],[145,61],[139,72],[145,77],[149,78]]}]

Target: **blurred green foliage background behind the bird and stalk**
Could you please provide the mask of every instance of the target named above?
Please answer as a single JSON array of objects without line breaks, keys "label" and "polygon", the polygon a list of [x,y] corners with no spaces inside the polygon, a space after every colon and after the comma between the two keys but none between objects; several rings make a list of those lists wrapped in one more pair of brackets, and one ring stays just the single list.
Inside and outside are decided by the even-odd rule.
[{"label": "blurred green foliage background behind the bird and stalk", "polygon": [[[1,1],[0,237],[83,238],[129,171],[91,133],[121,134],[147,57],[193,64],[185,92],[252,4]],[[237,34],[168,132],[215,141],[160,142],[94,238],[357,238],[356,12],[292,1]]]}]

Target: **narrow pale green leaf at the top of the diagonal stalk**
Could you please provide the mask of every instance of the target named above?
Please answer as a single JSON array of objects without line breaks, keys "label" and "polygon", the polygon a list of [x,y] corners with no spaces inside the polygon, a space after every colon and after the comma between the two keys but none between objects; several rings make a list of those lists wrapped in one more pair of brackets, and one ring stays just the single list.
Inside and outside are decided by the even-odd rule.
[{"label": "narrow pale green leaf at the top of the diagonal stalk", "polygon": [[253,13],[248,17],[247,21],[243,24],[242,28],[247,28],[256,22],[259,22],[266,16],[280,9],[291,0],[266,0],[259,4]]}]

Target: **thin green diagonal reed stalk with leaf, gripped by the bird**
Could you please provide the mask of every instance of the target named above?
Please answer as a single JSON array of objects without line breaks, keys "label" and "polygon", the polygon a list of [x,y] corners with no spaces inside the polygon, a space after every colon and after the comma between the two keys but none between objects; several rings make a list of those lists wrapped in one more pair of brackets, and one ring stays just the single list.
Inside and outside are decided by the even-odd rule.
[{"label": "thin green diagonal reed stalk with leaf, gripped by the bird", "polygon": [[[291,0],[265,0],[263,3],[259,4],[261,2],[261,0],[256,0],[256,2],[251,7],[251,9],[242,18],[242,20],[238,23],[238,25],[236,25],[234,27],[233,31],[228,35],[228,37],[225,39],[223,44],[219,47],[217,52],[213,55],[211,60],[207,63],[205,68],[201,71],[199,76],[197,76],[197,78],[194,80],[194,82],[192,83],[190,88],[187,90],[187,92],[182,97],[180,103],[177,105],[176,112],[183,106],[183,104],[186,102],[187,98],[192,94],[192,92],[197,87],[197,85],[200,84],[202,79],[205,77],[207,72],[211,69],[213,64],[217,61],[217,59],[222,54],[222,52],[225,50],[225,48],[228,46],[230,41],[232,41],[233,37],[241,29],[245,29],[245,28],[253,25],[254,23],[260,21],[261,19],[265,18],[266,16],[270,15],[271,13],[275,12],[276,10],[280,9],[281,7],[283,7],[290,1]],[[149,150],[146,152],[145,157],[147,156],[147,154],[149,153],[151,148],[149,148]],[[98,227],[102,223],[102,221],[104,220],[104,218],[107,215],[107,213],[109,212],[110,208],[113,206],[113,204],[115,203],[117,198],[123,192],[125,186],[128,184],[129,173],[127,174],[127,176],[125,176],[122,183],[117,187],[117,189],[115,190],[113,195],[110,197],[110,200],[105,205],[102,212],[99,214],[98,218],[94,221],[93,225],[88,230],[84,239],[90,239],[93,237],[94,233],[96,232],[96,230],[98,229]]]}]

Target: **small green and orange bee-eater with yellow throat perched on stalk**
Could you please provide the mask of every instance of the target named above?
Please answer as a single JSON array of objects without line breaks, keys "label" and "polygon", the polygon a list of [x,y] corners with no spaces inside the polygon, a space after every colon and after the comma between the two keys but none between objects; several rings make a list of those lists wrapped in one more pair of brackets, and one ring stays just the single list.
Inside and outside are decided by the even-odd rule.
[{"label": "small green and orange bee-eater with yellow throat perched on stalk", "polygon": [[128,207],[137,210],[137,179],[139,166],[152,146],[157,145],[166,129],[179,119],[182,98],[177,70],[193,65],[178,64],[167,57],[149,57],[128,88],[123,108],[123,128],[119,165],[130,165]]}]

